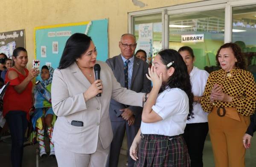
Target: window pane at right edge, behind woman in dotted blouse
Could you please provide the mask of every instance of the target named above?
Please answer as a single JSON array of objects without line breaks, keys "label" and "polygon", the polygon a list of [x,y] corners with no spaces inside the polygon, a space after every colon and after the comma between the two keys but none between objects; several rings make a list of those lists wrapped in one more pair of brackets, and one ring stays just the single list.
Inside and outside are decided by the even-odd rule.
[{"label": "window pane at right edge, behind woman in dotted blouse", "polygon": [[232,8],[232,42],[241,47],[256,78],[256,5]]}]

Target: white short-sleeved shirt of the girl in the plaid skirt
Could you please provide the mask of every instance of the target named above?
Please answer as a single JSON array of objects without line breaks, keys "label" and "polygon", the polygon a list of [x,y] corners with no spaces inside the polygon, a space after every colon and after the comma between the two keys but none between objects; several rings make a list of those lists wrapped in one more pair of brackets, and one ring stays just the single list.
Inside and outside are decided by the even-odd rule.
[{"label": "white short-sleeved shirt of the girl in the plaid skirt", "polygon": [[157,96],[152,109],[163,118],[154,123],[141,122],[142,134],[176,136],[184,133],[189,113],[189,98],[179,88],[166,89]]}]

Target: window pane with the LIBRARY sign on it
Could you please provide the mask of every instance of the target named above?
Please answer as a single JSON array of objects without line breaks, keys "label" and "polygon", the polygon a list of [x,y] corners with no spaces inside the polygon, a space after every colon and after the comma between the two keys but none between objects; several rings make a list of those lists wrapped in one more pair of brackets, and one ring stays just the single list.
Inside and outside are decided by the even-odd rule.
[{"label": "window pane with the LIBRARY sign on it", "polygon": [[[224,44],[224,19],[224,9],[170,15],[169,48],[178,50],[182,46],[189,46],[194,51],[196,67],[204,69],[205,66],[215,66],[215,55]],[[197,34],[204,34],[204,41],[199,40]],[[186,37],[182,38],[182,35]]]}]

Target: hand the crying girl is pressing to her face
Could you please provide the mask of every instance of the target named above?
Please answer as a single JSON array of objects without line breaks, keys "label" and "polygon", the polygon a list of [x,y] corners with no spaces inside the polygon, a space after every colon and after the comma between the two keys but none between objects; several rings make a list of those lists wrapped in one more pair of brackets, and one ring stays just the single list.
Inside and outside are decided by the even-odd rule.
[{"label": "hand the crying girl is pressing to her face", "polygon": [[147,78],[152,81],[153,87],[161,88],[162,82],[163,82],[163,73],[160,73],[160,75],[157,75],[156,67],[151,66],[151,68],[148,68],[148,74],[146,74]]}]

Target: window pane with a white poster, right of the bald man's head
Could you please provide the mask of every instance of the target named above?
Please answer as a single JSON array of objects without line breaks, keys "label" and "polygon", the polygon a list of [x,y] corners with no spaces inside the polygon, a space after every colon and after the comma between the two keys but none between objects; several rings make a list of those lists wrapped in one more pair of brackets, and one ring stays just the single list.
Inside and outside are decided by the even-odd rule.
[{"label": "window pane with a white poster, right of the bald man's head", "polygon": [[133,17],[133,34],[137,39],[137,48],[147,53],[147,62],[151,62],[162,49],[162,14],[148,14]]}]

